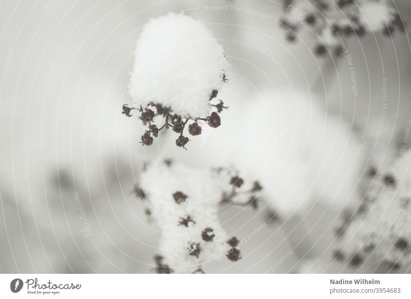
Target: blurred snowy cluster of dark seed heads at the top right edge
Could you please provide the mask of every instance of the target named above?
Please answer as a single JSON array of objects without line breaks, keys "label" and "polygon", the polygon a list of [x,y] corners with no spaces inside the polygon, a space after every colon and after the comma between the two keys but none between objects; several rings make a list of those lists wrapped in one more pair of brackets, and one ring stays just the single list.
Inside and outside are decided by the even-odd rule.
[{"label": "blurred snowy cluster of dark seed heads at the top right edge", "polygon": [[287,40],[295,41],[304,27],[319,40],[314,52],[324,55],[342,53],[341,38],[363,36],[367,32],[391,35],[405,31],[401,16],[389,0],[284,0],[281,26]]}]

